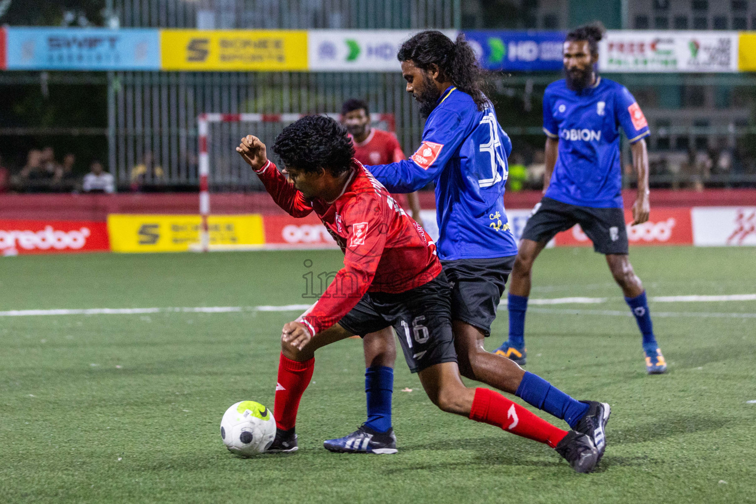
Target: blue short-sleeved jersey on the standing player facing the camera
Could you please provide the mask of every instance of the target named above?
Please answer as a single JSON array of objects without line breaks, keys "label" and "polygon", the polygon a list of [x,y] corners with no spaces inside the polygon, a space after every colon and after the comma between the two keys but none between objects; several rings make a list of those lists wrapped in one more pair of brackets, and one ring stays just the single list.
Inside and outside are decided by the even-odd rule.
[{"label": "blue short-sleeved jersey on the standing player facing the camera", "polygon": [[599,77],[582,91],[552,82],[544,93],[544,132],[559,138],[545,196],[570,205],[622,208],[619,128],[635,143],[649,125],[624,85]]}]

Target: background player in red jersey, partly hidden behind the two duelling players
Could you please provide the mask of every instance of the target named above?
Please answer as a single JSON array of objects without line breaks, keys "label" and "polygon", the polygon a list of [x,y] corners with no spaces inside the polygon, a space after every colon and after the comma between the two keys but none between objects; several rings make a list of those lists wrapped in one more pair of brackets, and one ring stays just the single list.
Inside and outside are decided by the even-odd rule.
[{"label": "background player in red jersey, partly hidden behind the two duelling players", "polygon": [[[407,159],[396,135],[370,126],[370,109],[367,101],[350,98],[341,107],[341,122],[346,126],[355,144],[355,159],[363,165],[386,165]],[[410,210],[417,224],[420,218],[420,199],[417,193],[392,194],[401,208]]]}]

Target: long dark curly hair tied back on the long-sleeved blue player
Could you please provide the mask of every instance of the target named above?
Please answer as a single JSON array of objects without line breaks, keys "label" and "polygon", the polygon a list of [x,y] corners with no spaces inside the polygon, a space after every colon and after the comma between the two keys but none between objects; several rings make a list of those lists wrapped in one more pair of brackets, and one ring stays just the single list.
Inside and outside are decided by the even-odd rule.
[{"label": "long dark curly hair tied back on the long-sleeved blue player", "polygon": [[411,61],[421,70],[437,65],[457,89],[472,97],[478,110],[491,104],[484,92],[486,72],[463,34],[457,36],[457,42],[451,42],[442,32],[429,29],[404,42],[396,56],[399,61]]}]

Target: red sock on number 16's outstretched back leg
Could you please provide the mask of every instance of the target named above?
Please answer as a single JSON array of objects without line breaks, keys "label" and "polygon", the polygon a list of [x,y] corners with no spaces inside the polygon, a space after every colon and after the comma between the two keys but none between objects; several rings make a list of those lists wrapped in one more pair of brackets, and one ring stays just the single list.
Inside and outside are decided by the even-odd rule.
[{"label": "red sock on number 16's outstretched back leg", "polygon": [[469,418],[476,422],[496,425],[523,438],[546,443],[552,448],[556,448],[559,441],[567,435],[567,431],[562,431],[561,428],[551,425],[519,404],[488,388],[475,389]]}]

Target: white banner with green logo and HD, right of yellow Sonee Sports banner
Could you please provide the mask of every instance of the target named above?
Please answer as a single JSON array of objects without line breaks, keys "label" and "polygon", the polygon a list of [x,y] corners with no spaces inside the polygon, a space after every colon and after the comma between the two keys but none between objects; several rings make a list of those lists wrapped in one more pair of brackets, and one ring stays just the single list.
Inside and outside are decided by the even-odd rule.
[{"label": "white banner with green logo and HD, right of yellow Sonee Sports banner", "polygon": [[[418,30],[311,29],[307,32],[309,70],[398,72],[396,53]],[[441,30],[454,40],[457,31]]]}]

